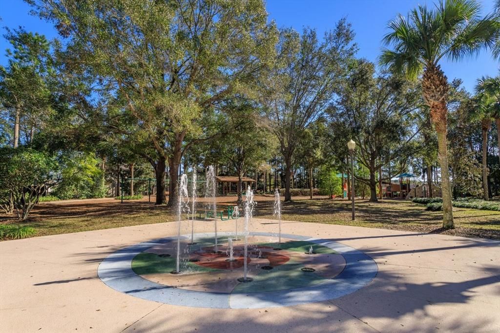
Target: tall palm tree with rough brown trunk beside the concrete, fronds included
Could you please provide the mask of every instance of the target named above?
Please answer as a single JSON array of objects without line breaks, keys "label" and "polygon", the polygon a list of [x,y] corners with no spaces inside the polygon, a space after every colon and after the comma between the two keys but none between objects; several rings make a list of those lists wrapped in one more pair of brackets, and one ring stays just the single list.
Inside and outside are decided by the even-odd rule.
[{"label": "tall palm tree with rough brown trunk beside the concrete, fronds included", "polygon": [[422,94],[437,132],[443,228],[454,225],[446,147],[448,82],[438,63],[443,57],[457,61],[484,46],[494,46],[499,34],[497,17],[480,18],[479,13],[480,6],[473,0],[441,0],[432,9],[420,5],[407,18],[399,15],[389,22],[390,32],[383,41],[392,49],[384,48],[380,55],[380,64],[408,77],[416,78],[423,69]]}]

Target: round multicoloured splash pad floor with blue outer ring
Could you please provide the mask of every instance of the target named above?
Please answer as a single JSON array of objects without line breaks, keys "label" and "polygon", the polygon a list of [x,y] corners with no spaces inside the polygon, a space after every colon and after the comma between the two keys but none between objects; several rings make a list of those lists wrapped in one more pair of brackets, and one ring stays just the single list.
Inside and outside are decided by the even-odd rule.
[{"label": "round multicoloured splash pad floor with blue outer ring", "polygon": [[176,237],[114,252],[99,264],[97,273],[108,286],[143,299],[193,307],[260,308],[337,298],[368,284],[378,270],[366,254],[334,241],[282,234],[276,247],[268,242],[274,234],[251,232],[247,276],[252,281],[240,282],[243,244],[233,242],[234,260],[227,260],[224,239],[229,236],[219,233],[215,249],[213,234],[196,234],[196,245],[183,246],[181,274],[170,274],[175,269]]}]

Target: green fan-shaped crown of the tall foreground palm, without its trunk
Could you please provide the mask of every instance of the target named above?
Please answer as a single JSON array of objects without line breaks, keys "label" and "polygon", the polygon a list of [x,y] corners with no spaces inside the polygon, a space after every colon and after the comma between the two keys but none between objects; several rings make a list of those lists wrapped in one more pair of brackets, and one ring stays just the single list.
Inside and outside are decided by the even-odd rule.
[{"label": "green fan-shaped crown of the tall foreground palm, without its trunk", "polygon": [[[403,68],[396,61],[417,58],[420,63],[436,65],[443,56],[459,60],[476,55],[482,47],[490,47],[500,57],[498,16],[481,19],[480,9],[475,0],[440,0],[435,8],[419,5],[406,18],[398,15],[387,24],[389,32],[382,40],[394,53],[384,49],[379,62],[390,65],[390,61],[394,68]],[[413,64],[407,66],[413,68]]]}]

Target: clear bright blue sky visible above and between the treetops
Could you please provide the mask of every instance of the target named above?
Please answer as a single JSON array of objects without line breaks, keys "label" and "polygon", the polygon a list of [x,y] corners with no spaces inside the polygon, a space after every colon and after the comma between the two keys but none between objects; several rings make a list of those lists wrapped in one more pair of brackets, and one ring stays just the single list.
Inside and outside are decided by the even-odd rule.
[{"label": "clear bright blue sky visible above and between the treetops", "polygon": [[[316,28],[319,35],[334,27],[343,16],[352,24],[356,33],[355,41],[359,50],[357,56],[375,61],[381,45],[382,36],[387,32],[387,22],[398,13],[406,14],[416,5],[432,1],[415,0],[267,0],[269,19],[274,19],[279,27],[292,26],[301,31],[304,26]],[[491,11],[492,0],[481,1],[484,13]],[[57,37],[51,24],[29,14],[29,5],[21,0],[0,0],[0,26],[17,27],[22,25],[28,31],[45,34],[48,38]],[[2,29],[3,34],[3,29]],[[0,64],[6,64],[5,48],[8,43],[0,38]],[[472,91],[475,80],[482,75],[496,75],[498,63],[489,51],[483,50],[477,58],[461,62],[443,61],[442,69],[448,79],[458,77],[464,86]]]}]

